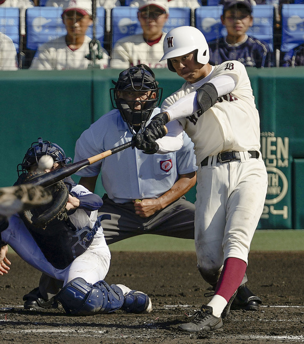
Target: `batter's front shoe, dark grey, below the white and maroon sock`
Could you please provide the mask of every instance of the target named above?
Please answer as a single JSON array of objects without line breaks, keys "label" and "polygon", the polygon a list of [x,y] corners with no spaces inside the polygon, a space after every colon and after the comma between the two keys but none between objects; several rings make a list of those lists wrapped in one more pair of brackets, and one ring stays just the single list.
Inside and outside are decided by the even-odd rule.
[{"label": "batter's front shoe, dark grey, below the white and maroon sock", "polygon": [[187,332],[200,332],[200,331],[223,331],[222,318],[214,317],[212,314],[212,307],[203,305],[199,311],[197,311],[191,322],[181,324],[178,329]]}]

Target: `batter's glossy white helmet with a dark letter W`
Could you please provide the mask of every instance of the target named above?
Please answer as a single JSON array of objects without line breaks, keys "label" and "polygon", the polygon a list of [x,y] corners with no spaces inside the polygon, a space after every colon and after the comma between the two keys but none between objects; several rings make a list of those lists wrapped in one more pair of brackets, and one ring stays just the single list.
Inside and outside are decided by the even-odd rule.
[{"label": "batter's glossy white helmet with a dark letter W", "polygon": [[197,62],[209,62],[209,46],[203,33],[194,26],[179,26],[170,30],[164,37],[164,56],[170,71],[175,72],[170,58],[186,55],[197,49]]}]

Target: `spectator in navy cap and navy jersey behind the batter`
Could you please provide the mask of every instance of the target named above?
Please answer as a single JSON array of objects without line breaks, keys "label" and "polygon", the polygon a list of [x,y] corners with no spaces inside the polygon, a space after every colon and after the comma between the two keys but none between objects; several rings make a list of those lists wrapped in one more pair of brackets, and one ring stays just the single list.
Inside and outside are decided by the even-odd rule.
[{"label": "spectator in navy cap and navy jersey behind the batter", "polygon": [[268,44],[246,34],[253,25],[252,2],[225,0],[221,3],[224,5],[221,22],[227,29],[227,36],[209,42],[210,64],[237,60],[248,67],[273,67],[275,58]]}]

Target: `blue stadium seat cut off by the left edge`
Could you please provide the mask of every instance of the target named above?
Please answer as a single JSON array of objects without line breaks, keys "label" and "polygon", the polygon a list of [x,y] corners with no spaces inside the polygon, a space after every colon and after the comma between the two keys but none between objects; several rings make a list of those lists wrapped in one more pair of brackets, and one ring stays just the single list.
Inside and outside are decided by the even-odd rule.
[{"label": "blue stadium seat cut off by the left edge", "polygon": [[10,37],[19,52],[19,8],[1,7],[0,8],[0,32]]}]

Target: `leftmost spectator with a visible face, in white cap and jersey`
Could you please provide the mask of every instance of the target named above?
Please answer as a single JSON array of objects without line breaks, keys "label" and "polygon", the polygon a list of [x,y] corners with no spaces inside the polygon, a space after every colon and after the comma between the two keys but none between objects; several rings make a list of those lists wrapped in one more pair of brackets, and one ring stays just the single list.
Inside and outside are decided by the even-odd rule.
[{"label": "leftmost spectator with a visible face, in white cap and jersey", "polygon": [[95,61],[91,61],[86,58],[90,53],[89,43],[92,40],[86,32],[93,24],[92,8],[87,5],[87,1],[70,0],[68,7],[62,13],[67,34],[42,44],[34,56],[30,69],[87,69],[93,64],[98,65],[100,69],[108,67],[109,55],[101,47],[101,59],[96,58]]}]

